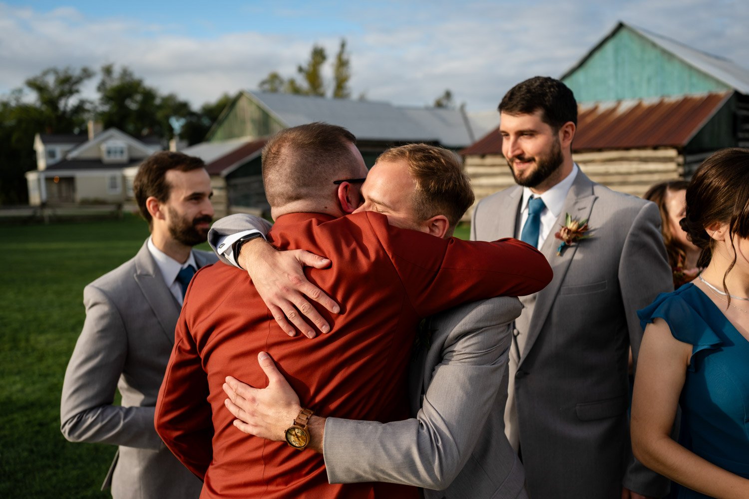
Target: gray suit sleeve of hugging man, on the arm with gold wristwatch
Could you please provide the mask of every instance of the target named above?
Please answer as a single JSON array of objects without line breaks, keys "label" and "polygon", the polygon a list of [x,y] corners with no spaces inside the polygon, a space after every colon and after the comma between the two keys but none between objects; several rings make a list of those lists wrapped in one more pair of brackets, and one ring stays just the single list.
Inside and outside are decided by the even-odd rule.
[{"label": "gray suit sleeve of hugging man, on the arm with gold wristwatch", "polygon": [[[508,319],[508,310],[500,318],[496,301],[494,307],[492,301],[478,303],[448,332],[416,418],[386,424],[327,419],[323,447],[330,483],[375,481],[445,489],[478,439],[491,438],[479,429],[506,367],[511,336],[506,322],[518,316],[521,306],[513,307]],[[433,343],[432,348],[439,347]]]}]

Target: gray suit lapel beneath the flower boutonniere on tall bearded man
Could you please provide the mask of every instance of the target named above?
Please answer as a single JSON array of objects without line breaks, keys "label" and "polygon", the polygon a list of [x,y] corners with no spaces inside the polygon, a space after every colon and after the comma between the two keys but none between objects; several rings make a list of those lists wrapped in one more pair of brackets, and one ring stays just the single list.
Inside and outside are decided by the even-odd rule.
[{"label": "gray suit lapel beneath the flower boutonniere on tall bearded man", "polygon": [[554,278],[551,283],[539,292],[536,298],[536,304],[533,307],[533,317],[530,320],[530,326],[528,328],[528,337],[525,343],[524,352],[521,355],[518,367],[523,363],[525,358],[533,347],[533,343],[536,342],[536,338],[539,337],[539,333],[543,328],[546,318],[551,310],[551,305],[554,304],[554,300],[557,299],[562,281],[564,281],[565,275],[569,264],[574,258],[574,254],[577,252],[577,245],[571,245],[564,248],[562,255],[557,255],[557,248],[559,248],[560,240],[554,236],[565,223],[565,216],[567,213],[572,218],[578,220],[584,220],[590,218],[592,212],[593,203],[597,196],[593,195],[593,183],[592,181],[583,174],[582,171],[577,172],[577,177],[574,179],[574,183],[567,193],[562,212],[560,212],[557,218],[557,224],[552,228],[548,237],[546,238],[544,245],[541,248],[541,252],[544,254],[546,259],[551,265],[551,269],[554,271]]}]

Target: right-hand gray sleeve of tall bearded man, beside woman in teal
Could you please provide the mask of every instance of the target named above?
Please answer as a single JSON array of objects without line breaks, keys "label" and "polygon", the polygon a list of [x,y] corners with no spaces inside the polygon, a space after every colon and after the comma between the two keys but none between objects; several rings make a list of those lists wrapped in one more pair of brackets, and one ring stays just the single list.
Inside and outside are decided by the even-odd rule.
[{"label": "right-hand gray sleeve of tall bearded man, beside woman in teal", "polygon": [[[643,328],[637,310],[649,305],[658,293],[673,291],[673,278],[661,236],[661,217],[654,203],[646,203],[628,233],[619,261],[619,286],[627,311],[629,341],[634,368],[643,339]],[[662,498],[669,490],[669,480],[645,468],[630,452],[623,485],[631,491],[652,498]]]}]

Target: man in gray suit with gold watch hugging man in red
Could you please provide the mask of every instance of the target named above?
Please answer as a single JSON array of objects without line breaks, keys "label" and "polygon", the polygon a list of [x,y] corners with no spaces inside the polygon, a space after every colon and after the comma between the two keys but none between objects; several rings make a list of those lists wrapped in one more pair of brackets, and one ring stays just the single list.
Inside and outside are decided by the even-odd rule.
[{"label": "man in gray suit with gold watch hugging man in red", "polygon": [[[398,156],[398,161],[378,160],[362,187],[360,209],[384,212],[398,227],[429,231],[414,215],[419,210],[416,203],[424,198],[398,195],[401,186],[416,192],[429,182],[434,189],[449,185],[446,179],[458,175],[464,179],[466,197],[473,199],[458,162],[442,171],[425,165],[413,168],[414,163],[408,154]],[[430,173],[420,178],[419,172],[423,177],[425,171]],[[427,211],[433,212],[450,198],[430,192],[427,199],[434,203]],[[467,206],[470,202],[461,213]],[[213,225],[212,245],[220,247],[223,242],[228,248],[218,236],[250,228],[249,219],[233,216]],[[437,235],[450,233],[452,228]],[[243,248],[242,263],[248,261],[246,251],[261,244]],[[412,419],[382,424],[329,417],[319,425],[324,427],[321,433],[315,432],[318,425],[310,424],[310,448],[324,454],[330,483],[404,483],[424,487],[425,498],[526,498],[523,468],[505,438],[502,418],[509,325],[520,310],[518,299],[503,297],[464,304],[425,320],[410,366]],[[314,349],[314,343],[309,348]],[[268,388],[256,390],[229,378],[225,390],[234,402],[227,406],[234,416],[251,423],[237,422],[238,428],[279,441],[299,412],[299,399],[270,358],[262,360],[261,367],[270,379]]]}]

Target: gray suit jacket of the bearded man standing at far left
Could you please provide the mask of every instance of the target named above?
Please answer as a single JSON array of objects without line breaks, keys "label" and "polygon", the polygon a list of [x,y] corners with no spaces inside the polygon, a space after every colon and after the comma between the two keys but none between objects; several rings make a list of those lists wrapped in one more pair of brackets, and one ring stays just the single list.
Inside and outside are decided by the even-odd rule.
[{"label": "gray suit jacket of the bearded man standing at far left", "polygon": [[[198,266],[216,261],[205,251],[193,254]],[[148,247],[88,284],[83,302],[86,319],[62,387],[63,435],[119,446],[103,486],[112,486],[114,498],[197,498],[201,481],[154,429],[180,305]],[[112,405],[116,388],[121,405]]]}]

